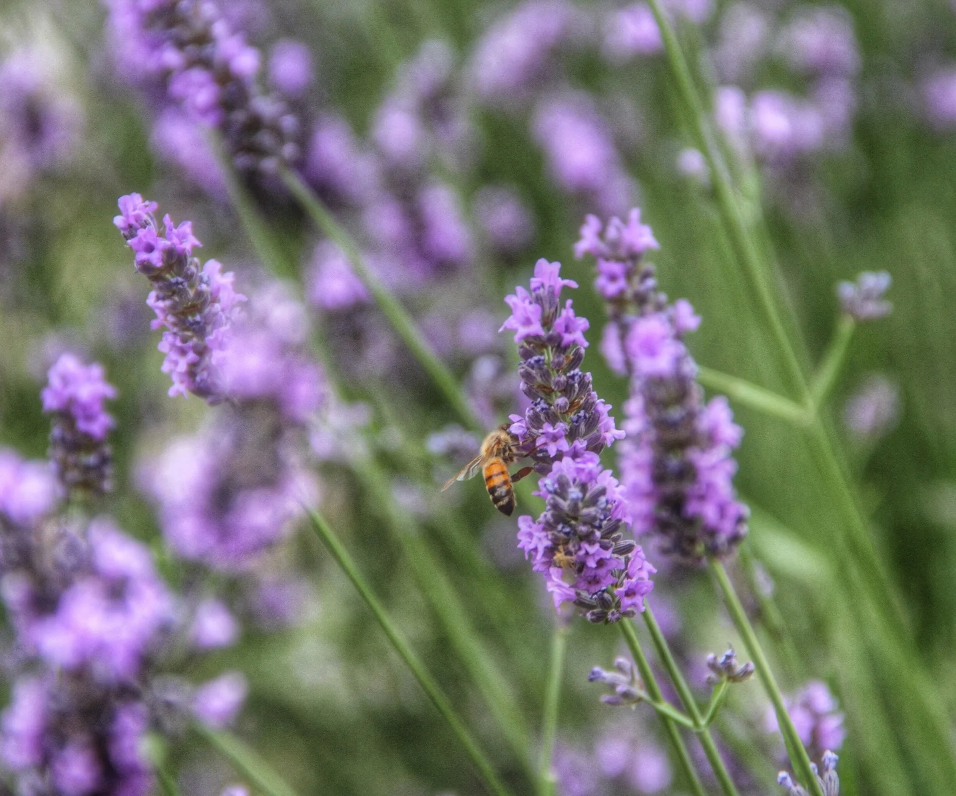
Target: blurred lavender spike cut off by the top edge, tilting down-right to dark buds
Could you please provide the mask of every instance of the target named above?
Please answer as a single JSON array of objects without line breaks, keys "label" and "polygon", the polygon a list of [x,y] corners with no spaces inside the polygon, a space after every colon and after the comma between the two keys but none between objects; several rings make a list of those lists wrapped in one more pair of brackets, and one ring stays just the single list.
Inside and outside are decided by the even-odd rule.
[{"label": "blurred lavender spike cut off by the top edge, tilting down-right to dark buds", "polygon": [[190,118],[217,129],[243,174],[274,172],[300,156],[286,102],[258,85],[261,54],[210,0],[106,0],[120,68],[159,84]]}]

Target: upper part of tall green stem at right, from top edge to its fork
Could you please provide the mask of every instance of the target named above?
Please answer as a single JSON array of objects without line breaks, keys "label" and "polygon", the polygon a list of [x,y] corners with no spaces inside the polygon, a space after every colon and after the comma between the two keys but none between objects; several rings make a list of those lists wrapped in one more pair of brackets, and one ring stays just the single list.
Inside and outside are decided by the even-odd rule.
[{"label": "upper part of tall green stem at right, from top edge to its fork", "polygon": [[770,326],[780,353],[784,357],[791,386],[798,392],[800,398],[805,398],[807,388],[803,369],[796,357],[790,337],[778,311],[771,280],[767,278],[767,269],[761,259],[758,247],[753,242],[747,220],[733,187],[727,162],[724,160],[716,135],[709,123],[704,110],[704,103],[694,86],[690,68],[684,57],[684,51],[681,49],[670,20],[663,12],[661,0],[650,0],[650,6],[661,31],[664,54],[677,81],[678,93],[684,102],[694,138],[698,148],[704,154],[707,165],[710,167],[710,179],[717,199],[717,208],[728,231],[730,245],[733,247],[737,259],[750,276],[750,287],[756,293],[757,303],[764,315],[764,320]]}]

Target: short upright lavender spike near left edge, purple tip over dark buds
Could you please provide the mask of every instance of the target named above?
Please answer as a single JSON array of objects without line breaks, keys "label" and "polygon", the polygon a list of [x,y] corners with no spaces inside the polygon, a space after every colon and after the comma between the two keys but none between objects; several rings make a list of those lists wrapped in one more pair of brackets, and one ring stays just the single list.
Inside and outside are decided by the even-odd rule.
[{"label": "short upright lavender spike near left edge, purple tip over dark buds", "polygon": [[102,365],[84,365],[75,355],[64,354],[48,374],[40,397],[43,411],[54,414],[50,432],[50,459],[56,475],[68,490],[108,492],[113,480],[113,452],[106,433],[113,418],[103,408],[117,391],[103,378]]}]

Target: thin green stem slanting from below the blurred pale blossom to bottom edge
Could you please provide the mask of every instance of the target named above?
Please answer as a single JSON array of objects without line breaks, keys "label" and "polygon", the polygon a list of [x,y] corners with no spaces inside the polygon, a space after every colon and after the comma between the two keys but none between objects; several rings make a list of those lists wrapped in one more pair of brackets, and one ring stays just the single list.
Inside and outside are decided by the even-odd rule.
[{"label": "thin green stem slanting from below the blurred pale blossom to bottom edge", "polygon": [[392,643],[392,646],[399,656],[402,657],[402,660],[414,678],[418,680],[419,685],[422,686],[422,690],[424,690],[428,699],[431,699],[432,704],[435,705],[438,712],[441,713],[442,717],[447,721],[448,726],[458,738],[458,741],[465,747],[468,757],[471,758],[471,762],[485,780],[485,784],[488,785],[489,790],[497,794],[497,796],[511,796],[511,791],[498,778],[497,773],[495,773],[485,753],[478,745],[478,742],[471,737],[471,734],[465,726],[465,722],[462,721],[455,712],[455,709],[451,706],[451,702],[445,696],[445,692],[442,691],[441,686],[435,678],[431,676],[431,673],[425,667],[422,660],[419,656],[415,655],[415,652],[409,646],[408,642],[405,641],[402,634],[399,633],[399,629],[392,623],[388,614],[385,613],[385,609],[382,608],[378,597],[375,596],[365,582],[364,577],[362,577],[361,572],[359,572],[359,568],[352,560],[352,556],[349,555],[348,550],[342,546],[342,543],[338,541],[335,531],[329,527],[321,515],[315,510],[309,509],[309,517],[312,520],[315,533],[319,539],[322,540],[326,548],[329,549],[329,552],[332,553],[332,557],[336,559],[338,566],[342,568],[342,571],[344,571],[349,580],[352,581],[352,585],[355,586],[356,591],[359,592],[365,604],[372,613],[375,614],[380,628],[384,631],[385,635],[388,636],[388,640]]}]

